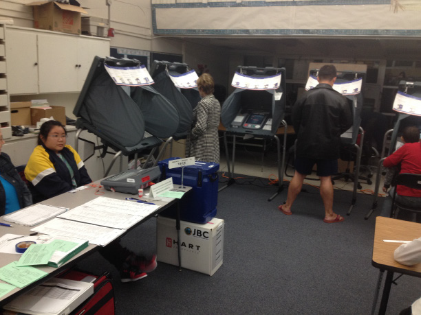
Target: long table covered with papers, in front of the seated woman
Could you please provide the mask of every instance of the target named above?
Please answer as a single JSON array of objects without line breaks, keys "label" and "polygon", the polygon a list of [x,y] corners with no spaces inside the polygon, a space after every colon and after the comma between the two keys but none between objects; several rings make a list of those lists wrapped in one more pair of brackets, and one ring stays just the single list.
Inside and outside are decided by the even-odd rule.
[{"label": "long table covered with papers, in front of the seated woman", "polygon": [[[98,182],[96,182],[94,184],[87,185],[87,186],[90,186],[89,189],[83,189],[83,190],[80,190],[80,191],[78,191],[74,194],[72,194],[72,193],[61,194],[60,196],[56,196],[56,197],[50,198],[48,200],[45,200],[45,201],[43,201],[43,203],[45,205],[52,205],[52,206],[57,206],[57,207],[67,207],[69,209],[73,209],[74,207],[78,207],[80,205],[83,205],[86,202],[88,202],[88,201],[90,201],[90,200],[92,200],[92,199],[94,199],[98,196],[105,196],[105,197],[108,197],[108,198],[116,198],[116,199],[120,199],[120,200],[124,200],[127,197],[134,196],[134,195],[130,195],[130,194],[122,194],[122,193],[118,193],[118,192],[108,191],[108,190],[105,190],[103,188],[98,189],[99,183],[100,183],[100,180],[98,180]],[[94,185],[96,187],[93,187]],[[177,188],[177,189],[180,189],[179,185],[175,185],[174,187]],[[186,189],[186,192],[187,192],[187,191],[191,190],[191,187],[185,187],[184,189]],[[142,224],[142,222],[145,222],[145,221],[149,220],[153,216],[160,213],[162,210],[166,209],[167,207],[170,207],[175,202],[177,202],[177,199],[174,199],[171,202],[164,202],[164,201],[154,202],[156,205],[161,205],[162,207],[156,209],[153,213],[148,215],[146,218],[143,218],[140,222],[138,222],[134,226],[131,226],[131,228],[127,229],[127,231],[124,234],[122,234],[121,237],[126,235],[126,233],[128,231],[131,231],[132,229],[136,228],[136,226]],[[6,222],[2,219],[3,218],[0,217],[0,222],[10,223],[10,222]],[[41,223],[41,224],[43,224],[43,223]],[[39,224],[39,225],[41,225],[41,224]],[[13,225],[13,227],[0,226],[0,235],[4,235],[4,234],[8,234],[8,233],[19,234],[19,235],[30,235],[30,233],[31,233],[30,229],[34,228],[34,226],[21,226],[19,224],[14,224],[14,223],[12,223],[12,225]],[[179,226],[180,226],[180,222],[178,222],[178,224],[177,224],[178,229],[180,229]],[[39,285],[39,284],[45,282],[47,279],[50,279],[51,277],[54,277],[54,276],[60,274],[61,272],[63,272],[63,270],[65,270],[65,269],[67,269],[71,266],[74,266],[78,261],[82,260],[83,258],[87,257],[87,255],[91,255],[96,250],[98,250],[98,247],[99,246],[96,246],[94,244],[89,244],[89,246],[87,248],[82,250],[76,256],[72,257],[72,259],[69,259],[69,261],[67,261],[65,264],[63,264],[63,266],[61,266],[59,268],[52,268],[52,267],[48,267],[48,266],[37,267],[37,268],[39,268],[39,269],[41,269],[45,272],[48,272],[48,275],[46,277],[41,278],[39,281],[35,281],[34,283],[31,283],[30,285],[26,286],[25,288],[22,288],[22,289],[15,288],[14,290],[9,292],[8,294],[5,294],[5,295],[1,296],[0,297],[0,306],[9,303],[10,301],[12,301],[12,299],[14,299],[15,296],[17,296],[19,294],[22,294],[24,292],[27,292],[28,290],[34,288],[36,285]],[[19,254],[16,254],[16,255],[1,254],[0,255],[0,267],[6,266],[7,264],[10,264],[12,261],[17,261],[17,260],[19,260],[19,258],[20,258]],[[3,281],[1,281],[1,282],[3,282]]]}]

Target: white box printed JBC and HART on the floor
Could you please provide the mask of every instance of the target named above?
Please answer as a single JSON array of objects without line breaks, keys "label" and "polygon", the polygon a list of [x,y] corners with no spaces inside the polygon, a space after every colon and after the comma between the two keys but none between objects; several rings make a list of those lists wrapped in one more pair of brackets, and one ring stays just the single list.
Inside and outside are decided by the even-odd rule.
[{"label": "white box printed JBC and HART on the floor", "polygon": [[[178,266],[175,219],[158,217],[158,261]],[[224,220],[213,218],[206,224],[182,221],[180,229],[181,266],[213,275],[224,256]]]}]

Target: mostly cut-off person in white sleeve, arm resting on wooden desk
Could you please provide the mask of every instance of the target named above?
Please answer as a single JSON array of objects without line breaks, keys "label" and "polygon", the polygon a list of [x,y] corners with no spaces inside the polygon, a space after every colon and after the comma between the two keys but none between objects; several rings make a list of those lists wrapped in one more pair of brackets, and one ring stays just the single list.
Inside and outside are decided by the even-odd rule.
[{"label": "mostly cut-off person in white sleeve, arm resting on wooden desk", "polygon": [[[421,263],[421,237],[407,244],[402,244],[396,248],[394,253],[395,260],[405,266],[413,266]],[[410,307],[399,314],[421,314],[421,298],[415,301]]]}]

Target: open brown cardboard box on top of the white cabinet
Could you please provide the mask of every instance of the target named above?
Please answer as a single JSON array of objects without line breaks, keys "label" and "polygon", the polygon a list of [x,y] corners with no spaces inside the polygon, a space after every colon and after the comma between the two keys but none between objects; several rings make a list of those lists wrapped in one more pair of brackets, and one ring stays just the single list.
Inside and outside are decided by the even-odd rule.
[{"label": "open brown cardboard box on top of the white cabinet", "polygon": [[87,14],[76,5],[56,1],[36,1],[28,3],[34,8],[34,27],[41,30],[81,34],[81,13]]}]

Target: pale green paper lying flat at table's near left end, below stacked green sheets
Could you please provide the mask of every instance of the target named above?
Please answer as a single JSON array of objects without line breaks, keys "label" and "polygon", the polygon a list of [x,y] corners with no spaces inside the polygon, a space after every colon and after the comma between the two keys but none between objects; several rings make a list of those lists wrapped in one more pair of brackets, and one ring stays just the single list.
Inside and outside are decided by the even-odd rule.
[{"label": "pale green paper lying flat at table's near left end, below stacked green sheets", "polygon": [[0,279],[18,288],[23,288],[47,275],[47,272],[34,267],[18,267],[17,261],[0,268]]}]

